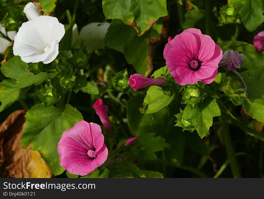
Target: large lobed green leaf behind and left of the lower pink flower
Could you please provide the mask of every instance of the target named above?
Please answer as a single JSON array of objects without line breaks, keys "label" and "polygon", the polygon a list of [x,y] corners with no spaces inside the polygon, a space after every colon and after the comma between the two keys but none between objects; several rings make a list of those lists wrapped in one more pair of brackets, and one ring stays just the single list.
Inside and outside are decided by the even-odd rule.
[{"label": "large lobed green leaf behind and left of the lower pink flower", "polygon": [[58,141],[65,130],[83,119],[81,113],[69,104],[62,113],[54,106],[45,108],[37,104],[25,117],[27,122],[21,138],[22,147],[25,148],[31,143],[31,149],[40,152],[52,173],[61,174],[65,169],[60,166]]}]

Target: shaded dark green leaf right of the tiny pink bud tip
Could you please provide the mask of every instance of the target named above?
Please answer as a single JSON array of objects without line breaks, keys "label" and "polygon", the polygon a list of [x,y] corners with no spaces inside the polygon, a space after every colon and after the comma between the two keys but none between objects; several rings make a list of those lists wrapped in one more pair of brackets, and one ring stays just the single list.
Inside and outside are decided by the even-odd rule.
[{"label": "shaded dark green leaf right of the tiny pink bud tip", "polygon": [[163,151],[165,147],[165,139],[157,136],[155,133],[145,133],[137,137],[137,145],[140,145],[139,157],[143,159],[153,160],[157,156],[155,152]]}]

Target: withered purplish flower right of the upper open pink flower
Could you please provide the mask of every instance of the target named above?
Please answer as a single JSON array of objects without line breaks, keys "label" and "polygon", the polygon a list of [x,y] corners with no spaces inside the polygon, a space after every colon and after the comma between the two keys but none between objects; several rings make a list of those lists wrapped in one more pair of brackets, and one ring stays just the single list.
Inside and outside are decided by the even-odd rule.
[{"label": "withered purplish flower right of the upper open pink flower", "polygon": [[238,51],[228,50],[223,54],[219,67],[228,67],[230,71],[236,70],[243,65],[244,55],[239,54]]}]

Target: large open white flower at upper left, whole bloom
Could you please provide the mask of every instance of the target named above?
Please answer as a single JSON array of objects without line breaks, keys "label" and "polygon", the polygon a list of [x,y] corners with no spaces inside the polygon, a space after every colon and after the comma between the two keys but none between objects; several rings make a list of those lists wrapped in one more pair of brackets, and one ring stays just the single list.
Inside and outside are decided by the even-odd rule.
[{"label": "large open white flower at upper left, whole bloom", "polygon": [[58,43],[65,34],[64,25],[50,16],[25,22],[14,39],[13,53],[24,62],[48,64],[58,55]]}]

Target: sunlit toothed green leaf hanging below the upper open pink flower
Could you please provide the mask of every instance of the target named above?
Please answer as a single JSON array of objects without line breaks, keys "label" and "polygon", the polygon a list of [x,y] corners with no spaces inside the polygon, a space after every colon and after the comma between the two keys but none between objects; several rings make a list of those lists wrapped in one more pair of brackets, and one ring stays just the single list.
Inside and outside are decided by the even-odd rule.
[{"label": "sunlit toothed green leaf hanging below the upper open pink flower", "polygon": [[192,111],[192,122],[199,136],[203,138],[213,123],[213,117],[220,116],[220,109],[215,99],[206,98]]}]

